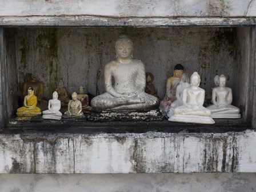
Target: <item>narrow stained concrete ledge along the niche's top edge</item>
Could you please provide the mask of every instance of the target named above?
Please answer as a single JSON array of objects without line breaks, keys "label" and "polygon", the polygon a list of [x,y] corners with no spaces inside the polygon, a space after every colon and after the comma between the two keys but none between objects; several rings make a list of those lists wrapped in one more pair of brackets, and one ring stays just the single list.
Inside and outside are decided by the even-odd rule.
[{"label": "narrow stained concrete ledge along the niche's top edge", "polygon": [[255,25],[251,17],[130,17],[113,18],[90,15],[71,16],[0,16],[3,26],[248,26]]}]

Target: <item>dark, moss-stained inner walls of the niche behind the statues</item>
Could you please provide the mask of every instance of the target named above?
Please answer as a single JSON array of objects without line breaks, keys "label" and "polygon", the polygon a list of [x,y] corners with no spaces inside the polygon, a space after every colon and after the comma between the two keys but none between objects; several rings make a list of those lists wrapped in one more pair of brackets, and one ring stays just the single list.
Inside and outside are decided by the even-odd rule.
[{"label": "dark, moss-stained inner walls of the niche behind the statues", "polygon": [[201,75],[206,97],[211,95],[214,76],[228,75],[227,86],[233,90],[233,105],[241,109],[241,122],[250,121],[250,27],[6,27],[3,105],[9,122],[22,106],[21,87],[27,73],[38,75],[45,83],[46,100],[61,78],[69,95],[79,86],[91,95],[104,93],[104,66],[115,59],[120,34],[133,40],[134,58],[141,59],[146,72],[154,74],[161,99],[166,78],[181,63],[189,76],[194,71]]}]

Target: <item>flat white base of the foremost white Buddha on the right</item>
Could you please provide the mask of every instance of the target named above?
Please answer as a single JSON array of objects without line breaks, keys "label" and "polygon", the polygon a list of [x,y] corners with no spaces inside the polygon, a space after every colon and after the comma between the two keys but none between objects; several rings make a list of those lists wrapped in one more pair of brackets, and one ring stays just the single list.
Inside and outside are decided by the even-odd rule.
[{"label": "flat white base of the foremost white Buddha on the right", "polygon": [[173,115],[168,121],[181,123],[197,123],[197,124],[214,124],[214,120],[210,117],[203,117],[197,115]]}]

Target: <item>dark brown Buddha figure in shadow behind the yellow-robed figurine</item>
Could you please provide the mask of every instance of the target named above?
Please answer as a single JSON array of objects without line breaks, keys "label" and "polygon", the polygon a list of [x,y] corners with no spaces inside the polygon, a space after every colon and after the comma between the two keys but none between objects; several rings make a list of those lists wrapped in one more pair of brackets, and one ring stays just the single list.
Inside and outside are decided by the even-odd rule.
[{"label": "dark brown Buddha figure in shadow behind the yellow-robed figurine", "polygon": [[33,87],[34,95],[37,96],[38,101],[43,98],[43,82],[39,81],[38,77],[33,77],[31,73],[27,74],[27,81],[22,85],[22,94],[25,97],[27,88]]}]

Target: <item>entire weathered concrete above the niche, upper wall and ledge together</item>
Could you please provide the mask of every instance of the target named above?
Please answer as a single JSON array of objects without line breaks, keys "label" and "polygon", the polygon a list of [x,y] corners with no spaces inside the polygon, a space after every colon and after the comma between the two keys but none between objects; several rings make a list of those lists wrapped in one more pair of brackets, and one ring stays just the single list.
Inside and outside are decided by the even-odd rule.
[{"label": "entire weathered concrete above the niche, upper wall and ledge together", "polygon": [[254,0],[0,1],[0,25],[252,25],[255,16]]}]

